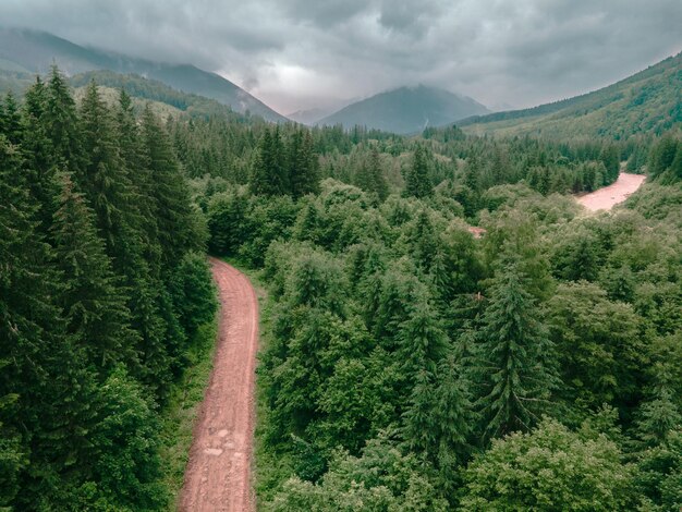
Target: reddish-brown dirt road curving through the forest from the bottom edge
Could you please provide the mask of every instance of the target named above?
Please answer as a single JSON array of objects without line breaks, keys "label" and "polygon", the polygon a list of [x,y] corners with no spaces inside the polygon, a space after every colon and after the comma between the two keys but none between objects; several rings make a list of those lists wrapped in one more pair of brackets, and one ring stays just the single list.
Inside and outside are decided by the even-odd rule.
[{"label": "reddish-brown dirt road curving through the forest from the bottom edge", "polygon": [[180,497],[186,512],[251,512],[258,301],[248,279],[211,258],[221,312],[214,370]]}]

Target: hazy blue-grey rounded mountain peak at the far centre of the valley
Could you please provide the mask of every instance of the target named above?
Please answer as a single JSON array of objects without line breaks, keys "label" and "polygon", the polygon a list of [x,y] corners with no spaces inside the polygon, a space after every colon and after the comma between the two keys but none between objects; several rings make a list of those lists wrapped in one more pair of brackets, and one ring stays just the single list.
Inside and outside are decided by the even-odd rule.
[{"label": "hazy blue-grey rounded mountain peak at the far centre of the valley", "polygon": [[472,98],[419,85],[400,87],[349,105],[317,124],[365,125],[393,133],[416,133],[489,110]]}]

